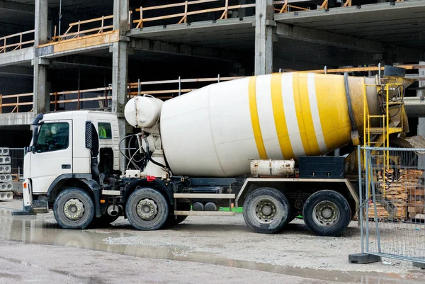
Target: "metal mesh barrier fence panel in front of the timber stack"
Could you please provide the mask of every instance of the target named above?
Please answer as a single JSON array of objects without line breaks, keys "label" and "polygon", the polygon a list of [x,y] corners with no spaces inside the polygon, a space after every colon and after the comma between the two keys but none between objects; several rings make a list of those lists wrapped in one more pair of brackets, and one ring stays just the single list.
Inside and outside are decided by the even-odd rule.
[{"label": "metal mesh barrier fence panel in front of the timber stack", "polygon": [[424,267],[425,149],[358,149],[362,254]]}]

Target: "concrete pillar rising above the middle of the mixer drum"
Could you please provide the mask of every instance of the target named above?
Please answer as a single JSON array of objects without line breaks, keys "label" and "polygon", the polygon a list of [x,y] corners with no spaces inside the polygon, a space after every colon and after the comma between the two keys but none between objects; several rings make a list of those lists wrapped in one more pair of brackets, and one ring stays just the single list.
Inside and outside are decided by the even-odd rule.
[{"label": "concrete pillar rising above the middle of the mixer drum", "polygon": [[273,0],[257,0],[255,4],[255,74],[273,71]]}]

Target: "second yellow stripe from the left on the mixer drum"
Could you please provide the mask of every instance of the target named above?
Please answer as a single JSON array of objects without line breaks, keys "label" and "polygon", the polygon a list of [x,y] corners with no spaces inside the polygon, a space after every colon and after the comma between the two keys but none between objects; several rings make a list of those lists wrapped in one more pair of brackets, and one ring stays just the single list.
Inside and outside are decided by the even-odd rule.
[{"label": "second yellow stripe from the left on the mixer drum", "polygon": [[273,106],[273,116],[276,125],[276,132],[278,134],[280,150],[282,151],[283,159],[292,159],[294,157],[294,152],[290,144],[288,127],[286,126],[282,93],[282,74],[272,74],[271,103]]}]

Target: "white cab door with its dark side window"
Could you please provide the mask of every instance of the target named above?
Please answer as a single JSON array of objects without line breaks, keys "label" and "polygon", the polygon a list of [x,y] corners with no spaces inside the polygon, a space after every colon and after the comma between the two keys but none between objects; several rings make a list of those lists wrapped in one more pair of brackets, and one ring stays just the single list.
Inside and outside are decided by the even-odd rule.
[{"label": "white cab door with its dark side window", "polygon": [[72,174],[72,120],[46,121],[31,153],[33,193],[47,193],[55,178],[63,174]]}]

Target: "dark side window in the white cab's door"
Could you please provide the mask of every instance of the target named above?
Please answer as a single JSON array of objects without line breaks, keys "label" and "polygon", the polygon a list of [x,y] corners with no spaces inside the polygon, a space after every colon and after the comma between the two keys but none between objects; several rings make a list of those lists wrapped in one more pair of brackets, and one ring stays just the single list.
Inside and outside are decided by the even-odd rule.
[{"label": "dark side window in the white cab's door", "polygon": [[67,149],[69,146],[68,123],[45,123],[41,125],[35,152],[51,152]]}]

